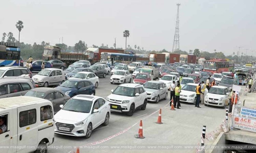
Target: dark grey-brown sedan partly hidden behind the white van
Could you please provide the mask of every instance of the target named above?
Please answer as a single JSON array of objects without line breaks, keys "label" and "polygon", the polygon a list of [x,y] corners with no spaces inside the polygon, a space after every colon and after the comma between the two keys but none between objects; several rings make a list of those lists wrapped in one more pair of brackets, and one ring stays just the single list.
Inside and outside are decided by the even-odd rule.
[{"label": "dark grey-brown sedan partly hidden behind the white van", "polygon": [[62,91],[54,88],[34,88],[29,90],[24,96],[43,98],[53,103],[54,114],[60,110],[60,105],[65,104],[70,97],[65,95]]}]

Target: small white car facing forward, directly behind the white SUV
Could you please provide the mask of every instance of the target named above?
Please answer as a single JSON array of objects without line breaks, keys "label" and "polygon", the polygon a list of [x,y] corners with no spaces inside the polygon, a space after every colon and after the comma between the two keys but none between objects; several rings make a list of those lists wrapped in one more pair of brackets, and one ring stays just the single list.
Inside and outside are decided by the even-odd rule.
[{"label": "small white car facing forward, directly behind the white SUV", "polygon": [[126,70],[117,70],[115,73],[110,77],[110,83],[131,83],[131,74],[129,71]]}]

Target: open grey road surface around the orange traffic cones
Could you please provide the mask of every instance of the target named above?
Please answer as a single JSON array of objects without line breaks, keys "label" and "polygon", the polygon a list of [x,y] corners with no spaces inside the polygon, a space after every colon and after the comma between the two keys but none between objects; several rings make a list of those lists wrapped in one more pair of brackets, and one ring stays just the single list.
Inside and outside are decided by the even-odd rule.
[{"label": "open grey road surface around the orange traffic cones", "polygon": [[[35,74],[35,73],[33,73]],[[96,96],[106,97],[111,94],[111,89],[115,89],[118,84],[110,84],[110,75],[106,78],[99,78],[99,86],[96,89]],[[200,135],[203,125],[207,125],[207,131],[216,129],[223,119],[225,119],[225,109],[218,107],[207,107],[201,104],[202,108],[194,107],[193,104],[181,104],[181,109],[170,111],[167,108],[168,99],[161,100],[159,103],[148,102],[146,110],[140,109],[134,112],[133,116],[128,117],[122,113],[112,112],[108,126],[99,126],[95,129],[89,139],[84,137],[72,137],[55,134],[55,142],[52,146],[82,146],[88,143],[99,141],[117,134],[120,131],[132,126],[143,119],[143,132],[145,139],[136,139],[134,134],[138,134],[139,124],[133,126],[122,135],[107,140],[100,145],[166,145],[166,144],[190,144],[196,145],[200,142]],[[162,108],[163,107],[163,108]],[[158,113],[150,114],[162,108],[162,121],[164,124],[156,124]],[[149,116],[149,117],[147,117]],[[144,119],[147,117],[146,119]],[[73,148],[72,148],[73,149]],[[68,153],[72,149],[48,150],[48,153]],[[110,152],[111,150],[85,150],[83,152]],[[112,152],[119,152],[115,150]],[[125,152],[141,152],[142,150],[125,150]],[[143,150],[143,152],[156,152],[156,150]],[[180,150],[181,151],[181,150]],[[170,150],[161,150],[161,152],[170,152]],[[177,152],[177,150],[173,151]],[[179,151],[178,151],[179,152]],[[181,151],[182,152],[182,151]],[[184,152],[184,150],[183,150]],[[195,150],[186,150],[185,152],[195,152]],[[73,152],[72,152],[73,153]]]}]

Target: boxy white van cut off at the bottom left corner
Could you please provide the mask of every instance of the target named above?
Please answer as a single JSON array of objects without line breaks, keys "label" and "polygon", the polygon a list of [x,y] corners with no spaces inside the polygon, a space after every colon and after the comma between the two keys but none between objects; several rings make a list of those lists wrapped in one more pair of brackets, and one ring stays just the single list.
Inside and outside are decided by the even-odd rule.
[{"label": "boxy white van cut off at the bottom left corner", "polygon": [[9,146],[1,153],[47,152],[53,142],[52,102],[28,96],[0,99],[0,146]]}]

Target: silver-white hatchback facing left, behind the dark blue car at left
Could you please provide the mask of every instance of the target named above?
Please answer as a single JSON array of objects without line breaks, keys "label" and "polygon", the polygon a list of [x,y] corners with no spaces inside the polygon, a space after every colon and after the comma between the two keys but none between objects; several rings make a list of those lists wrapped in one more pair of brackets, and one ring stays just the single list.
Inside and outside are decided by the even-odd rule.
[{"label": "silver-white hatchback facing left, behind the dark blue car at left", "polygon": [[61,69],[46,68],[32,77],[35,84],[48,87],[49,85],[59,85],[65,81],[65,75]]}]

